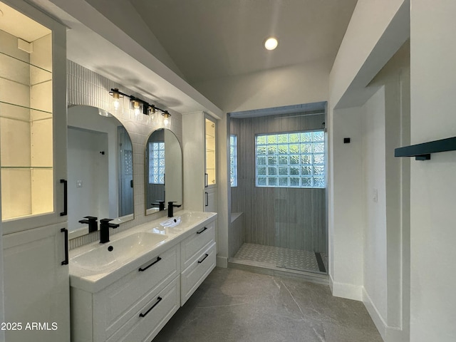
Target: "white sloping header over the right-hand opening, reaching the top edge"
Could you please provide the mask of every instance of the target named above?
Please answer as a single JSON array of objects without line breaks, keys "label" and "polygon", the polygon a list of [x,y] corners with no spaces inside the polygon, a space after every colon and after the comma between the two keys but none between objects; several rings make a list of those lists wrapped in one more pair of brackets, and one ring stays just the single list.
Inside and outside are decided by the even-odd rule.
[{"label": "white sloping header over the right-hand opening, reaching the top edge", "polygon": [[366,86],[410,36],[409,2],[358,0],[329,76],[331,106],[362,105],[373,95]]}]

